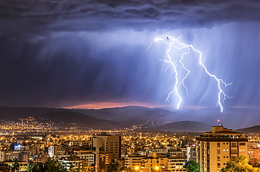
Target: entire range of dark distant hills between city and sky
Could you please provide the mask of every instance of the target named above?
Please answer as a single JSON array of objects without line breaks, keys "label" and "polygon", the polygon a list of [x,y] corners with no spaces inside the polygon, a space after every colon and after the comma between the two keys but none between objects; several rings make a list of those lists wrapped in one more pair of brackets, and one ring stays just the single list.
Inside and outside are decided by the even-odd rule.
[{"label": "entire range of dark distant hills between city and sky", "polygon": [[49,119],[62,126],[74,124],[80,128],[101,130],[141,126],[146,131],[210,131],[209,126],[217,125],[217,119],[221,120],[224,127],[231,129],[260,124],[259,110],[241,109],[240,112],[238,108],[229,108],[228,111],[221,113],[216,109],[174,110],[171,107],[138,106],[101,110],[0,107],[0,120],[19,121],[27,117],[34,117],[37,120]]}]

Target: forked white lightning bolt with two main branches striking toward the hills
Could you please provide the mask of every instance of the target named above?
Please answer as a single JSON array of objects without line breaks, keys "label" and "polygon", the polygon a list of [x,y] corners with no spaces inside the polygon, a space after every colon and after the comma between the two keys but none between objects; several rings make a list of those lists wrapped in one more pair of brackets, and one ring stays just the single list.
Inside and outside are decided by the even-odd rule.
[{"label": "forked white lightning bolt with two main branches striking toward the hills", "polygon": [[[152,44],[155,42],[155,41],[163,41],[164,44],[166,44],[167,46],[169,46],[169,48],[167,49],[167,57],[168,59],[167,60],[162,60],[164,62],[166,62],[168,65],[167,69],[169,67],[174,67],[174,77],[175,77],[175,84],[174,84],[174,88],[172,91],[169,92],[167,98],[165,101],[169,101],[169,97],[172,93],[175,93],[175,95],[177,96],[178,98],[178,104],[177,104],[177,109],[179,109],[180,105],[181,105],[181,102],[183,102],[183,98],[181,98],[181,95],[179,93],[179,88],[181,86],[183,86],[183,88],[186,89],[186,94],[188,95],[188,88],[186,87],[186,85],[184,84],[184,81],[185,79],[188,77],[188,74],[190,74],[190,70],[188,70],[188,68],[184,65],[183,63],[183,59],[184,59],[184,56],[185,55],[188,55],[190,53],[190,51],[194,51],[196,53],[199,54],[199,64],[200,66],[204,69],[204,72],[206,72],[206,74],[209,75],[209,77],[212,77],[215,81],[216,81],[216,84],[218,86],[218,90],[219,92],[217,93],[218,95],[218,100],[216,102],[216,106],[219,106],[220,107],[220,110],[221,112],[223,112],[223,105],[225,105],[225,100],[227,98],[232,98],[228,95],[226,95],[226,93],[223,91],[223,89],[221,88],[221,86],[229,86],[231,85],[232,83],[229,83],[229,84],[226,84],[226,82],[224,82],[222,79],[219,79],[216,77],[216,75],[214,74],[211,74],[208,70],[207,70],[207,67],[205,67],[205,65],[202,63],[202,52],[200,52],[199,50],[197,50],[193,45],[188,45],[188,44],[183,44],[181,41],[179,41],[179,39],[181,39],[181,37],[178,37],[177,39],[175,39],[174,37],[171,37],[169,36],[168,34],[163,34],[162,36],[160,37],[157,37],[154,41],[152,41],[152,43],[150,44],[150,46],[148,46],[147,48],[147,51],[149,50],[149,48],[152,46]],[[195,41],[197,39],[197,36],[195,35]],[[195,41],[193,41],[193,44],[195,44]],[[177,61],[173,61],[171,55],[170,55],[170,52],[172,49],[178,49],[178,50],[186,50],[184,53],[181,54],[181,57],[179,58],[179,60]],[[184,77],[179,77],[179,74],[178,74],[178,65],[181,65],[181,67],[183,67],[183,69],[186,71],[186,75]],[[167,70],[166,69],[166,70]],[[165,70],[165,71],[166,71]],[[222,98],[221,98],[222,96]]]}]

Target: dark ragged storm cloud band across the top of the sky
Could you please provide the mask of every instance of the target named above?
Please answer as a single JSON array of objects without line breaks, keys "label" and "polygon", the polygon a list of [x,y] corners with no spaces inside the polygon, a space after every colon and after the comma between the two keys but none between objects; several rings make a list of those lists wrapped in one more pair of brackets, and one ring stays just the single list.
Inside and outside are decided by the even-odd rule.
[{"label": "dark ragged storm cloud band across the top of the sky", "polygon": [[260,1],[1,1],[1,34],[176,29],[259,21]]}]

